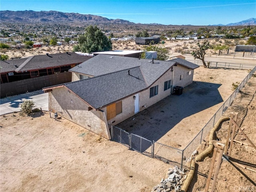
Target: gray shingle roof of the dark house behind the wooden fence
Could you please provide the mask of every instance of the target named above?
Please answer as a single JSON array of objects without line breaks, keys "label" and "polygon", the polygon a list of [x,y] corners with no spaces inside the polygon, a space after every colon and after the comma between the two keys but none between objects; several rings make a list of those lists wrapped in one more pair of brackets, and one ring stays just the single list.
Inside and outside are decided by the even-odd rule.
[{"label": "gray shingle roof of the dark house behind the wooden fence", "polygon": [[[21,58],[15,60],[6,60],[6,62],[10,63],[7,65],[6,62],[1,61],[1,73],[2,72],[10,72],[10,71],[29,71],[29,70],[38,70],[43,68],[51,68],[64,66],[69,64],[79,64],[82,63],[91,57],[81,56],[74,52],[68,53],[57,53],[57,54],[48,54],[45,55],[34,55],[28,58]],[[13,64],[18,66],[15,67]]]}]

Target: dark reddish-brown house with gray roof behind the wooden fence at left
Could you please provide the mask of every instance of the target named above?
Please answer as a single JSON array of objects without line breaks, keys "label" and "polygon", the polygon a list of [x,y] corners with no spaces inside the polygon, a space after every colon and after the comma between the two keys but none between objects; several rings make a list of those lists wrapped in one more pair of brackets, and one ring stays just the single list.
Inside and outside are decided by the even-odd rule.
[{"label": "dark reddish-brown house with gray roof behind the wooden fence at left", "polygon": [[39,76],[51,75],[68,70],[91,57],[74,52],[35,55],[28,58],[0,61],[1,84]]}]

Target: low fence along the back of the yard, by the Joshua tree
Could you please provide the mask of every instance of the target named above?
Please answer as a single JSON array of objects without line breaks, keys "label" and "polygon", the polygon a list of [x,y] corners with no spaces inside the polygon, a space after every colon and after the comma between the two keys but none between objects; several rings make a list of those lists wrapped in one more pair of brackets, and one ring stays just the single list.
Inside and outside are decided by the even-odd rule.
[{"label": "low fence along the back of the yard, by the Joshua tree", "polygon": [[[187,60],[197,65],[202,65],[202,61],[198,60]],[[225,69],[253,69],[255,65],[252,64],[244,64],[244,63],[229,63],[229,62],[215,62],[208,61],[210,68],[225,68]],[[208,64],[206,62],[206,64]]]}]

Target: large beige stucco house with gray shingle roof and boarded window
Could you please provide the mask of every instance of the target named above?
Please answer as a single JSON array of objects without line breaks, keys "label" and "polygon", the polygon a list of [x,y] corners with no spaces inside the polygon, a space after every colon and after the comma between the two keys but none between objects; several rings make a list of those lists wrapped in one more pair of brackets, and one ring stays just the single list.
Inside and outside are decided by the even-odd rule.
[{"label": "large beige stucco house with gray shingle roof and boarded window", "polygon": [[49,92],[49,110],[110,139],[108,124],[116,125],[162,100],[174,86],[191,84],[198,67],[180,58],[99,54],[69,70],[72,82],[43,90]]}]

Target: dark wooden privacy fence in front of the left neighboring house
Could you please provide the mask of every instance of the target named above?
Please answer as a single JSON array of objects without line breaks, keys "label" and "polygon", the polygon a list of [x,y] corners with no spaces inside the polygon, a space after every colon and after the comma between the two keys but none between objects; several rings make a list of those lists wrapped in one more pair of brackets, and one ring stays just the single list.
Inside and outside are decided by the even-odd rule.
[{"label": "dark wooden privacy fence in front of the left neighboring house", "polygon": [[1,84],[1,98],[40,90],[44,87],[71,82],[72,73],[63,72]]}]

